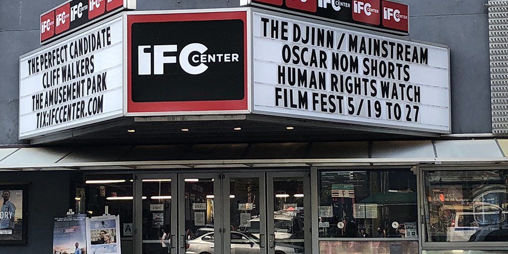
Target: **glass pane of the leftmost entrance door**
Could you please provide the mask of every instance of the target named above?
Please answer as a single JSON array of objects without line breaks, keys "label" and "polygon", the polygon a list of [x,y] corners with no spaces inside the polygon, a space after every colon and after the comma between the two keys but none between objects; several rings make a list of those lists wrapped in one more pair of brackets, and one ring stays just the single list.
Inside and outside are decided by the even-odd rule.
[{"label": "glass pane of the leftmost entrance door", "polygon": [[176,209],[172,196],[176,189],[174,174],[141,178],[142,253],[175,253]]}]

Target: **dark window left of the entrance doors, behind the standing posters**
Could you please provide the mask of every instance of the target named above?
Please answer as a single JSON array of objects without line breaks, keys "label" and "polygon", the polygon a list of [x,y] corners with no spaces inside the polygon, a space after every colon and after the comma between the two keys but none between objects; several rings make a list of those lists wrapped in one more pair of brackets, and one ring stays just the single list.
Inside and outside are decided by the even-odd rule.
[{"label": "dark window left of the entrance doors, behind the standing posters", "polygon": [[[119,215],[120,228],[133,223],[133,177],[124,175],[87,175],[85,181],[87,216]],[[121,237],[132,237],[132,231]]]}]

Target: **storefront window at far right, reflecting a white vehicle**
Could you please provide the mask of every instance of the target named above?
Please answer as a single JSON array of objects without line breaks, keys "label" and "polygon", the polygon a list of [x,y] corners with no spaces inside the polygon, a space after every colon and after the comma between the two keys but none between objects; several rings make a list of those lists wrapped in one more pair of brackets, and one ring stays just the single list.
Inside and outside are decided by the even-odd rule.
[{"label": "storefront window at far right, reflecting a white vehicle", "polygon": [[508,241],[508,170],[426,171],[426,241]]}]

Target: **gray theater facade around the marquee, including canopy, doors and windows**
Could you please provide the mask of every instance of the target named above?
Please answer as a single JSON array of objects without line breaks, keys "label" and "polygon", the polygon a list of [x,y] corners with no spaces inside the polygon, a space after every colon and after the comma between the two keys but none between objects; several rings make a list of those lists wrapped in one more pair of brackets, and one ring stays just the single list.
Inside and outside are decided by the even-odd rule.
[{"label": "gray theater facade around the marquee, including canopy, doors and windows", "polygon": [[[108,206],[120,228],[135,229],[116,236],[129,254],[243,253],[242,244],[251,248],[245,253],[271,254],[508,253],[507,84],[492,76],[503,74],[502,58],[492,58],[503,52],[493,50],[504,49],[492,25],[508,23],[508,4],[398,2],[409,7],[409,35],[392,38],[449,47],[450,134],[237,114],[121,117],[19,139],[20,56],[41,47],[40,15],[62,2],[0,0],[0,184],[28,186],[27,217],[19,220],[27,242],[0,241],[0,252],[57,253],[55,217],[69,209],[100,216]],[[231,0],[140,0],[133,12],[240,7]],[[117,195],[131,199],[107,199]],[[152,211],[153,200],[164,209]],[[196,208],[203,204],[205,212]],[[164,239],[165,227],[176,233]],[[241,234],[247,242],[237,241]]]}]

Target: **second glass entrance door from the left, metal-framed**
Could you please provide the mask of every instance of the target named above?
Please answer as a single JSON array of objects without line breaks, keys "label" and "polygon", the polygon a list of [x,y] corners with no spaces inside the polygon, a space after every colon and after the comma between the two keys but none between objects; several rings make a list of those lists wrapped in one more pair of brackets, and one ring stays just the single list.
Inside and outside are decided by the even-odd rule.
[{"label": "second glass entrance door from the left, metal-framed", "polygon": [[220,174],[179,175],[179,254],[222,253]]}]

